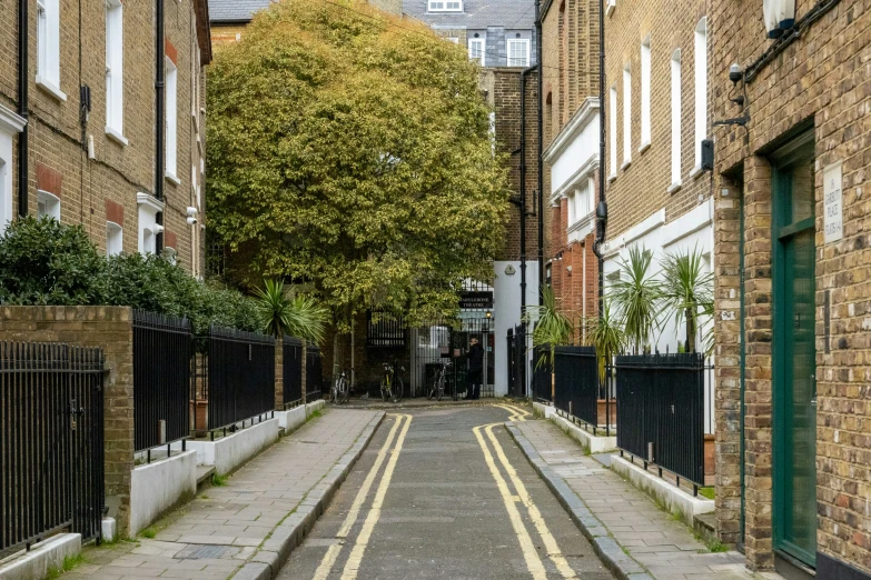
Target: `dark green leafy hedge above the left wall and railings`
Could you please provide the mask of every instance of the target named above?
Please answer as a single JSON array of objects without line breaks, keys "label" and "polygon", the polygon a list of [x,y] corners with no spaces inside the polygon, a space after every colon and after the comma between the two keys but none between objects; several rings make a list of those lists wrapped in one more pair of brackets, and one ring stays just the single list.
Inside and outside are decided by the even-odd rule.
[{"label": "dark green leafy hedge above the left wall and railings", "polygon": [[260,330],[253,299],[201,283],[154,254],[100,256],[79,226],[33,217],[0,236],[0,303],[129,306],[187,317],[196,333],[216,323]]}]

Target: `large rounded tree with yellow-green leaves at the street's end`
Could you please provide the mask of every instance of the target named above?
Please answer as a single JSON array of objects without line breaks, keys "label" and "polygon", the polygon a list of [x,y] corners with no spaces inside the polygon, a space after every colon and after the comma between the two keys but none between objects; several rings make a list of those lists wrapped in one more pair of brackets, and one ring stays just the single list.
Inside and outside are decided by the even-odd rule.
[{"label": "large rounded tree with yellow-green leaves at the street's end", "polygon": [[477,66],[365,4],[283,0],[209,71],[208,220],[231,276],[305,281],[339,331],[489,278],[507,212]]}]

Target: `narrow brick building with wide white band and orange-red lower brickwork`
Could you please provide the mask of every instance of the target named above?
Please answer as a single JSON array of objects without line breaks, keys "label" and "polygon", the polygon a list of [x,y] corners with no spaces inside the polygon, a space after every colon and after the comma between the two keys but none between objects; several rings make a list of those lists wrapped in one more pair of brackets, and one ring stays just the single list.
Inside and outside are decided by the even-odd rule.
[{"label": "narrow brick building with wide white band and orange-red lower brickwork", "polygon": [[598,310],[598,2],[545,2],[542,42],[545,272],[560,307],[578,322]]}]

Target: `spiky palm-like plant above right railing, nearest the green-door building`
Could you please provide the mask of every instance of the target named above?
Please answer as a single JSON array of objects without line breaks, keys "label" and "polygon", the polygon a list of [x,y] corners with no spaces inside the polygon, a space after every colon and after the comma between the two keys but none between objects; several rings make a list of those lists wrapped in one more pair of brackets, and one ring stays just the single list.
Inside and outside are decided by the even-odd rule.
[{"label": "spiky palm-like plant above right railing, nearest the green-door building", "polygon": [[[701,319],[713,313],[714,277],[704,271],[704,258],[697,247],[665,254],[661,266],[663,303],[677,328],[685,323],[685,350],[695,352]],[[709,341],[704,342],[707,347]]]}]

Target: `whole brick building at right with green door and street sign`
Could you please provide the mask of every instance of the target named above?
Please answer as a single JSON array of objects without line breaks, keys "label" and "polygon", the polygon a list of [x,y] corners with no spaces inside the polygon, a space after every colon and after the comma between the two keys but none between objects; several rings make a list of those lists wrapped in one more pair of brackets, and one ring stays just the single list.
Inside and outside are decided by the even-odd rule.
[{"label": "whole brick building at right with green door and street sign", "polygon": [[720,534],[751,568],[868,579],[871,13],[764,4],[711,14]]}]

